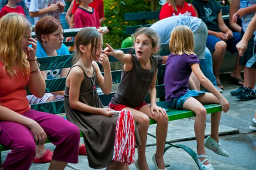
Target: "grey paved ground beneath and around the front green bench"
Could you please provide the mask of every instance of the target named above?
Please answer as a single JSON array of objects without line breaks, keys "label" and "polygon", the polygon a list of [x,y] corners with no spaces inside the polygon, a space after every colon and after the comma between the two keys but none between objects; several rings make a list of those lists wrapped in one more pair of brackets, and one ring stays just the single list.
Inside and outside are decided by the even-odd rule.
[{"label": "grey paved ground beneath and around the front green bench", "polygon": [[[256,132],[249,129],[251,119],[256,110],[256,100],[239,102],[230,91],[238,86],[229,84],[229,75],[222,75],[222,83],[225,87],[223,96],[230,103],[230,111],[222,115],[219,128],[220,140],[223,147],[230,153],[229,157],[223,157],[206,149],[207,156],[215,169],[256,169]],[[155,126],[150,126],[150,133],[155,132]],[[207,117],[206,135],[210,134],[210,119]],[[183,119],[169,122],[168,141],[174,144],[184,144],[196,151],[194,137],[194,120]],[[81,139],[82,140],[82,139]],[[155,153],[155,139],[148,137],[146,148],[147,162],[150,169],[155,169],[151,157]],[[167,146],[167,145],[166,145]],[[47,148],[54,149],[54,145],[46,144]],[[8,152],[2,153],[2,161]],[[136,155],[137,156],[137,155]],[[198,169],[194,160],[182,149],[170,148],[165,153],[165,161],[170,164],[168,169]],[[47,169],[49,164],[32,164],[30,169]],[[66,169],[90,169],[86,156],[79,156],[78,164],[68,164]],[[135,169],[130,165],[130,169]]]}]

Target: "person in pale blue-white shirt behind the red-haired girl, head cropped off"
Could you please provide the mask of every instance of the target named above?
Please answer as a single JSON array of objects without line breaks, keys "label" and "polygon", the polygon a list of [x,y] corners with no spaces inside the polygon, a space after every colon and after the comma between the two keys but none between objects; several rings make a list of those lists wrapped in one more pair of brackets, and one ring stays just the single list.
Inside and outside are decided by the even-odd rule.
[{"label": "person in pale blue-white shirt behind the red-haired girl, head cropped off", "polygon": [[31,0],[29,14],[34,17],[36,24],[45,15],[51,15],[59,20],[64,8],[64,0]]}]

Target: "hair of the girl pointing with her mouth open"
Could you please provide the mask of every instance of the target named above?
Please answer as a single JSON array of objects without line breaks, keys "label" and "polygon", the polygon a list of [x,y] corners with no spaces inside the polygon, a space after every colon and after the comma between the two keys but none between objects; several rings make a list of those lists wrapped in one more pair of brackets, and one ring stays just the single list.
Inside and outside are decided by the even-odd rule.
[{"label": "hair of the girl pointing with her mouth open", "polygon": [[[157,49],[159,49],[159,38],[155,30],[150,29],[149,27],[140,27],[133,35],[134,44],[136,42],[138,35],[140,34],[144,34],[147,37],[149,37],[149,39],[151,39],[152,48],[157,47]],[[157,53],[157,52],[158,50],[156,50],[154,53]]]}]

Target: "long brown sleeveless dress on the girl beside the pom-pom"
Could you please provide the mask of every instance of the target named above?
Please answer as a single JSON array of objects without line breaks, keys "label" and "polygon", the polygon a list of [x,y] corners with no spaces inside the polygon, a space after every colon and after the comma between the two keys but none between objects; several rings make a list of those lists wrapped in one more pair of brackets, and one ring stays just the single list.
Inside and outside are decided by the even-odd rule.
[{"label": "long brown sleeveless dress on the girl beside the pom-pom", "polygon": [[[75,65],[73,67],[76,67]],[[70,70],[73,68],[71,67]],[[81,66],[78,66],[81,67]],[[82,68],[82,67],[81,67]],[[83,70],[83,68],[82,68]],[[79,101],[91,107],[103,108],[97,90],[93,88],[93,82],[96,82],[95,68],[94,75],[90,78],[84,73],[84,79],[81,83]],[[90,114],[74,110],[69,103],[69,87],[65,89],[64,107],[67,120],[74,123],[82,132],[85,141],[87,159],[91,168],[105,168],[113,164],[115,126],[117,124],[118,114],[106,117],[103,115]],[[137,124],[135,123],[136,144],[140,145]]]}]

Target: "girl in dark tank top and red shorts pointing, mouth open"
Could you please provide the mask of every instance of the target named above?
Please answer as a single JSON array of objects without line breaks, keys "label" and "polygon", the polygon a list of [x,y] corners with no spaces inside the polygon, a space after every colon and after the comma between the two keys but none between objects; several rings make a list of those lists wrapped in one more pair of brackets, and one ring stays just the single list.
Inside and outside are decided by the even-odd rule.
[{"label": "girl in dark tank top and red shorts pointing, mouth open", "polygon": [[[157,151],[152,156],[152,160],[157,169],[165,169],[163,151],[169,120],[166,111],[158,107],[155,102],[157,72],[163,62],[161,56],[155,55],[159,48],[158,36],[153,29],[141,27],[134,37],[135,54],[131,51],[127,54],[121,50],[115,51],[109,44],[106,44],[105,54],[112,55],[124,63],[121,83],[109,107],[117,111],[130,110],[138,124],[142,144],[137,147],[138,160],[135,161],[137,169],[149,169],[145,155],[147,129],[149,119],[157,122]],[[147,93],[150,96],[150,105],[145,103]]]}]

